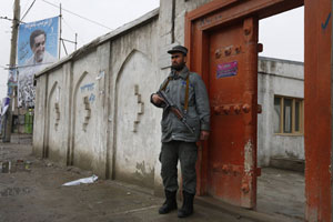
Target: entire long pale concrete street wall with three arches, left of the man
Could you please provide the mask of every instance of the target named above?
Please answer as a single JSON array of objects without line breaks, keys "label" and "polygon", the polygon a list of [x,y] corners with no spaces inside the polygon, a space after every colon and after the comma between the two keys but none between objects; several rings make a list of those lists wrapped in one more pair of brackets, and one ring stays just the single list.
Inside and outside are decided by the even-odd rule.
[{"label": "entire long pale concrete street wall with three arches, left of the man", "polygon": [[167,50],[184,42],[185,12],[206,2],[161,1],[39,73],[34,153],[161,191],[161,110],[150,94],[170,72]]}]

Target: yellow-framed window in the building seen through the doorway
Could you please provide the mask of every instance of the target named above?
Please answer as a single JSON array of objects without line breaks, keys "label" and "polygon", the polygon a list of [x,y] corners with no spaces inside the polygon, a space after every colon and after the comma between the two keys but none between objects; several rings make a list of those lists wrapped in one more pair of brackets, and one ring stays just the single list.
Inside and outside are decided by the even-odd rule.
[{"label": "yellow-framed window in the building seen through the doorway", "polygon": [[274,97],[274,133],[303,133],[303,99]]}]

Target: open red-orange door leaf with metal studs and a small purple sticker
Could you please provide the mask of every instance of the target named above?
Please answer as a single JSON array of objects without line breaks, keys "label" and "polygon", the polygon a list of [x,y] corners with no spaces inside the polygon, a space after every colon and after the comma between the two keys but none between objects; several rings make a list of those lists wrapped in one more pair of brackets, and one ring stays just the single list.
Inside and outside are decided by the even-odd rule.
[{"label": "open red-orange door leaf with metal studs and a small purple sticker", "polygon": [[240,20],[208,36],[212,128],[206,192],[235,205],[254,208],[258,20]]}]

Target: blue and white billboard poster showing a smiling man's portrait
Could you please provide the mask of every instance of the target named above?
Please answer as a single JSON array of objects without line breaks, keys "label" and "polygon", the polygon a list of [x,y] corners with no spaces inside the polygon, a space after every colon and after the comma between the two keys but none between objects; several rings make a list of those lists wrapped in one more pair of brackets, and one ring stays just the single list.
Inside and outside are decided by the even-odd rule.
[{"label": "blue and white billboard poster showing a smiling man's portrait", "polygon": [[33,75],[58,60],[59,17],[23,23],[18,38],[18,102],[34,107]]}]

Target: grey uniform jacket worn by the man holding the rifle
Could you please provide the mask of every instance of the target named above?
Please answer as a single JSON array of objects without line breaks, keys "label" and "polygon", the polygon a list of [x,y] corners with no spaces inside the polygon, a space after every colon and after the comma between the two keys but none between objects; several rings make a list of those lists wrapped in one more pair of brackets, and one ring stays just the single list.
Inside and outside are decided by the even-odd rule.
[{"label": "grey uniform jacket worn by the man holding the rifle", "polygon": [[[169,99],[184,113],[185,89],[186,78],[189,75],[189,108],[185,114],[186,123],[194,128],[194,133],[191,133],[189,129],[175,117],[173,112],[165,109],[164,104],[154,104],[163,109],[163,115],[161,120],[162,127],[162,142],[169,142],[171,140],[196,142],[200,139],[200,132],[202,130],[210,131],[210,104],[206,88],[201,77],[194,72],[190,72],[186,67],[176,74],[172,71],[169,77],[167,88],[164,89]],[[165,84],[168,79],[161,84],[160,90]]]}]

